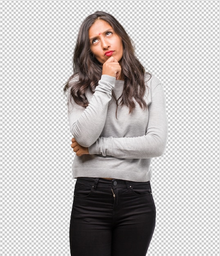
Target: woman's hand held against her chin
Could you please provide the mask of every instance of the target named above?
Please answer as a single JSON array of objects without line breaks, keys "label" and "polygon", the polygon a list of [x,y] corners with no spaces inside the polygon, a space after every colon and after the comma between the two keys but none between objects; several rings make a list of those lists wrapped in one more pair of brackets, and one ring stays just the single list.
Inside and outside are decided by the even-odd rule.
[{"label": "woman's hand held against her chin", "polygon": [[103,63],[102,74],[116,77],[116,80],[119,79],[121,74],[121,66],[116,58],[113,56],[108,58],[108,60]]}]

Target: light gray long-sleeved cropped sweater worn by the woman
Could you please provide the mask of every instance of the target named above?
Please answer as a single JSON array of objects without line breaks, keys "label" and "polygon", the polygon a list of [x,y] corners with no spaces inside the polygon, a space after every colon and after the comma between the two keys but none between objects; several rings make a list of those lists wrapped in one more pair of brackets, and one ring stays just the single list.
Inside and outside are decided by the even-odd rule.
[{"label": "light gray long-sleeved cropped sweater worn by the woman", "polygon": [[[146,77],[146,80],[149,76]],[[146,110],[136,104],[129,114],[127,106],[116,101],[121,96],[124,81],[102,75],[94,94],[88,90],[87,108],[70,103],[68,91],[68,117],[70,131],[76,141],[88,147],[90,155],[75,156],[73,177],[110,177],[121,180],[146,182],[150,180],[152,157],[164,153],[167,140],[167,117],[164,90],[152,75],[146,82]]]}]

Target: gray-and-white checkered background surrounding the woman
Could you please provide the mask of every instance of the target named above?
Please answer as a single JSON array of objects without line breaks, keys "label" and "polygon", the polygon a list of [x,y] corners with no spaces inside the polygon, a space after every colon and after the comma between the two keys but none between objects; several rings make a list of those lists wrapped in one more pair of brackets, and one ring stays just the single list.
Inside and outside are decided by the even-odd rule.
[{"label": "gray-and-white checkered background surrounding the woman", "polygon": [[220,255],[220,2],[0,2],[0,255],[69,256],[74,179],[63,84],[83,19],[114,15],[164,85],[149,256]]}]

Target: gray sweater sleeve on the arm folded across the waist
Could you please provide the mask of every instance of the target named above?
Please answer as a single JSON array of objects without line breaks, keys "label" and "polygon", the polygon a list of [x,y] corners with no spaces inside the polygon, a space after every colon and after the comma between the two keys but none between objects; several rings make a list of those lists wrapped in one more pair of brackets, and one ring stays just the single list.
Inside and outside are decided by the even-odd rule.
[{"label": "gray sweater sleeve on the arm folded across the waist", "polygon": [[167,141],[168,121],[164,90],[158,84],[151,92],[152,101],[148,106],[149,119],[146,134],[140,137],[99,137],[89,147],[90,154],[117,158],[152,158],[164,153]]}]

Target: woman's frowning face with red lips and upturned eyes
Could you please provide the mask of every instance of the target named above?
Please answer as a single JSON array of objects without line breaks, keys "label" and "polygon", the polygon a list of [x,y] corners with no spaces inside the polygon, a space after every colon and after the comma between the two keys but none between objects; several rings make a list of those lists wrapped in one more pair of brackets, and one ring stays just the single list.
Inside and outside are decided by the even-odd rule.
[{"label": "woman's frowning face with red lips and upturned eyes", "polygon": [[95,58],[105,63],[110,56],[120,61],[123,56],[121,38],[115,34],[112,27],[104,20],[97,20],[89,29],[90,49]]}]

